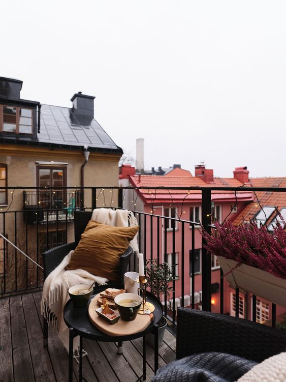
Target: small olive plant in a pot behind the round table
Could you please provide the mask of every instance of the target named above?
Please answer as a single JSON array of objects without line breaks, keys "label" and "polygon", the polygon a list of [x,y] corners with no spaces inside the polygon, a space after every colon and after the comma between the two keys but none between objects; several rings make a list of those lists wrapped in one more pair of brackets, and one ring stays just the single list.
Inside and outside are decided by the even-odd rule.
[{"label": "small olive plant in a pot behind the round table", "polygon": [[[145,275],[147,279],[147,286],[150,287],[151,293],[158,299],[162,295],[167,293],[169,296],[170,292],[173,291],[172,286],[169,285],[176,276],[174,276],[176,264],[170,265],[167,262],[160,263],[159,259],[147,259],[145,266]],[[161,346],[164,340],[164,332],[167,327],[167,319],[163,316],[162,320],[158,322],[158,344]],[[154,336],[153,334],[148,334],[146,336],[147,342],[154,346]]]}]

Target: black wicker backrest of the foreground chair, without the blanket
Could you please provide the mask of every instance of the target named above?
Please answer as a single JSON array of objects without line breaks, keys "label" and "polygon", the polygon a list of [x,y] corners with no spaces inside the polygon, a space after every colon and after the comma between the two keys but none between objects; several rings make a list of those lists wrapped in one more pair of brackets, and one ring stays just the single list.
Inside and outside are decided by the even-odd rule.
[{"label": "black wicker backrest of the foreground chair, without the blanket", "polygon": [[219,351],[262,362],[285,351],[286,333],[242,318],[178,308],[176,359]]}]

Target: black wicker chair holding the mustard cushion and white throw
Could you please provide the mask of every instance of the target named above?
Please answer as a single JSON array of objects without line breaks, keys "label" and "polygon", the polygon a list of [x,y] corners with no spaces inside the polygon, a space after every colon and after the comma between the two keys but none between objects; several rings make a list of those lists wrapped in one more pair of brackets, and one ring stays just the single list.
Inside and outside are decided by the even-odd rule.
[{"label": "black wicker chair holding the mustard cushion and white throw", "polygon": [[[76,248],[80,241],[81,234],[85,230],[87,223],[89,222],[92,215],[92,211],[75,211],[74,219],[74,232],[75,241],[69,244],[63,244],[58,247],[52,248],[42,254],[43,256],[43,267],[44,267],[44,280],[47,276],[60,264],[62,259],[72,250]],[[129,247],[121,256],[118,271],[118,284],[108,283],[110,287],[124,285],[124,273],[128,272],[129,262],[131,255],[133,254],[133,249]],[[96,288],[94,288],[96,289]],[[44,318],[44,345],[48,344],[48,324]]]}]

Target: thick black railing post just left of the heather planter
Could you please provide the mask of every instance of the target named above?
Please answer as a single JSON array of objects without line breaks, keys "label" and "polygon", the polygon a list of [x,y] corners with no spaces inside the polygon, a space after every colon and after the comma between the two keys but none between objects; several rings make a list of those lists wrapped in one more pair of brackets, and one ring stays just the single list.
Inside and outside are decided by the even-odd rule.
[{"label": "thick black railing post just left of the heather planter", "polygon": [[[202,225],[211,232],[211,190],[202,190]],[[204,248],[205,240],[202,238],[202,309],[211,311],[211,256]]]}]

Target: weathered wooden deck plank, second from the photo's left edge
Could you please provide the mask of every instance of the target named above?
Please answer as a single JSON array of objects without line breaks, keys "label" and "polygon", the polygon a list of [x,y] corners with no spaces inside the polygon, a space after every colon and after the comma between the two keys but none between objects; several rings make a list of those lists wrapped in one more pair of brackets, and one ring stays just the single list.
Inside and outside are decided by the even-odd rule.
[{"label": "weathered wooden deck plank, second from the photo's left edge", "polygon": [[35,381],[21,296],[10,297],[14,381]]}]

